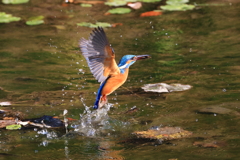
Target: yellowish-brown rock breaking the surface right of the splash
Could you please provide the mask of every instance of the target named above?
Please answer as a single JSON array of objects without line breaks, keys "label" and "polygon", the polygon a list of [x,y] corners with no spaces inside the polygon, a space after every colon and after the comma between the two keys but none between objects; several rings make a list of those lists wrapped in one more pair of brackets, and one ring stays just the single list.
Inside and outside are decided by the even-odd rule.
[{"label": "yellowish-brown rock breaking the surface right of the splash", "polygon": [[185,138],[192,135],[192,132],[181,129],[180,127],[155,127],[147,131],[133,132],[138,138],[172,140]]}]

